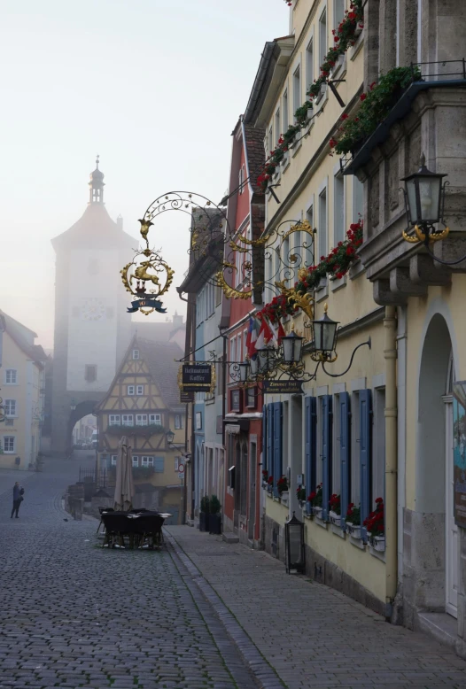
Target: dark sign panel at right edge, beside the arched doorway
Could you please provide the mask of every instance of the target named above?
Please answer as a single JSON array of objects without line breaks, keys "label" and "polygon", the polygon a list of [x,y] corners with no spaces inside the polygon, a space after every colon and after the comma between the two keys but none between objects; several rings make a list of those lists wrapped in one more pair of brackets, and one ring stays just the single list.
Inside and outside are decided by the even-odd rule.
[{"label": "dark sign panel at right edge, beside the arched doorway", "polygon": [[453,385],[454,523],[466,528],[466,381]]}]

